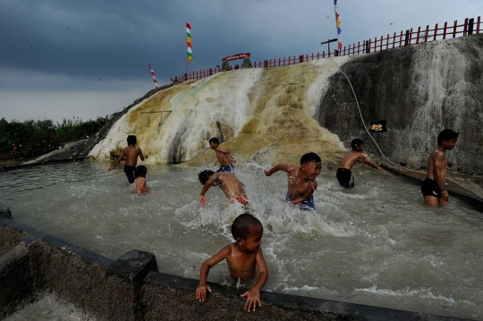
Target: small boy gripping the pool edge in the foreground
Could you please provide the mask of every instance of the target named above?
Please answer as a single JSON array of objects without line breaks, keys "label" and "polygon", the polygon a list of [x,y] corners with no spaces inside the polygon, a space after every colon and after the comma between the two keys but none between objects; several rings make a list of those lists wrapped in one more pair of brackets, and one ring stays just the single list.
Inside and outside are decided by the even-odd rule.
[{"label": "small boy gripping the pool edge in the foreground", "polygon": [[262,244],[263,226],[258,219],[250,214],[239,215],[232,224],[232,235],[235,240],[233,243],[225,246],[213,257],[201,266],[199,272],[199,285],[196,289],[196,299],[203,302],[207,299],[207,291],[211,292],[210,286],[207,284],[209,269],[218,262],[226,259],[228,270],[233,280],[250,281],[256,275],[258,269],[257,282],[249,291],[245,291],[241,296],[246,297],[245,309],[250,312],[261,307],[260,291],[267,283],[268,271],[263,253],[260,248]]}]

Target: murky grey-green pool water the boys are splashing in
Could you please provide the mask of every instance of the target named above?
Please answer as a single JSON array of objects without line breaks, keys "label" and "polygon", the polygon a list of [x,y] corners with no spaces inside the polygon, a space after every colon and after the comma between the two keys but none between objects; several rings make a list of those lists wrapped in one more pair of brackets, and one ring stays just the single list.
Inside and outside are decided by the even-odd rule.
[{"label": "murky grey-green pool water the boys are splashing in", "polygon": [[[266,177],[270,163],[267,153],[235,170],[265,228],[265,291],[483,318],[481,213],[457,198],[445,208],[425,207],[418,185],[364,165],[354,167],[353,190],[343,190],[335,173],[320,174],[316,211],[300,211],[280,201],[286,175]],[[230,224],[242,208],[227,207],[216,187],[200,207],[202,168],[148,165],[153,192],[136,196],[123,167],[107,167],[81,162],[2,173],[2,206],[23,224],[107,258],[140,249],[156,255],[161,272],[193,279],[233,241]],[[227,276],[221,262],[208,281],[228,284]]]}]

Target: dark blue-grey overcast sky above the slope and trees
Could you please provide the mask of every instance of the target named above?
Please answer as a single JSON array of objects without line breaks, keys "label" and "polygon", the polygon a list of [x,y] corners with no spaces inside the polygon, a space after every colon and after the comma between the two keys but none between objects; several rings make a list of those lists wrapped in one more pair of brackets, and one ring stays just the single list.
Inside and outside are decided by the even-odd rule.
[{"label": "dark blue-grey overcast sky above the slope and trees", "polygon": [[[483,0],[338,0],[343,45],[483,15]],[[334,0],[0,0],[0,118],[84,121],[129,106],[186,70],[244,52],[322,52]],[[233,62],[236,63],[236,62]],[[239,62],[240,63],[240,62]]]}]

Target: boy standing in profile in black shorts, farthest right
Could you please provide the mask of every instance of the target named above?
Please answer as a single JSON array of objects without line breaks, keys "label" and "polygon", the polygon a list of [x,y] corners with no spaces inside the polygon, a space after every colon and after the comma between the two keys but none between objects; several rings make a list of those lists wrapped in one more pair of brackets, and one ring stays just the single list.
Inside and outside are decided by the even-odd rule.
[{"label": "boy standing in profile in black shorts, farthest right", "polygon": [[445,187],[448,160],[446,150],[452,150],[456,146],[459,132],[445,129],[437,136],[437,148],[428,157],[428,175],[421,185],[421,193],[424,202],[429,207],[437,207],[448,204],[449,194]]}]

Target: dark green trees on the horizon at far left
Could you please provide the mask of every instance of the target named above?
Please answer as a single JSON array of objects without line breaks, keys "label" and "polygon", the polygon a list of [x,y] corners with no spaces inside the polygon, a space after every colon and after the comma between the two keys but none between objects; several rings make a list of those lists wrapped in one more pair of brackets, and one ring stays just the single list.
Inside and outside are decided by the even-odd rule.
[{"label": "dark green trees on the horizon at far left", "polygon": [[51,120],[28,120],[8,122],[0,119],[0,154],[17,152],[33,157],[58,149],[65,143],[87,139],[97,133],[111,117],[97,117],[96,120],[83,122],[79,117],[65,119],[63,122]]}]

